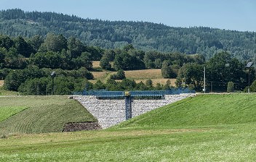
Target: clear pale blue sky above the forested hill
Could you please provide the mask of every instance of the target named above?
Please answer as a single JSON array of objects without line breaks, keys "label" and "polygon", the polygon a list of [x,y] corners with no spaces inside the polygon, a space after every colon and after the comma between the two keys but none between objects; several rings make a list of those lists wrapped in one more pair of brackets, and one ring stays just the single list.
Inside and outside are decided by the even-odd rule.
[{"label": "clear pale blue sky above the forested hill", "polygon": [[256,32],[255,0],[0,0],[0,10],[15,8],[85,19]]}]

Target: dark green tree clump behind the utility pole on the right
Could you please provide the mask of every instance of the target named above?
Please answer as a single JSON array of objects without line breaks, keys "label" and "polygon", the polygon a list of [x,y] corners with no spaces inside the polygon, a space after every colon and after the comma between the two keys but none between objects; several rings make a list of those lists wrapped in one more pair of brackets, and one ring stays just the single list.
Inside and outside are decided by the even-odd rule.
[{"label": "dark green tree clump behind the utility pole on the right", "polygon": [[184,64],[177,74],[177,87],[184,83],[201,91],[204,85],[204,67],[207,92],[245,92],[251,86],[250,82],[255,80],[255,67],[246,67],[245,63],[233,58],[228,52],[220,52],[204,64]]}]

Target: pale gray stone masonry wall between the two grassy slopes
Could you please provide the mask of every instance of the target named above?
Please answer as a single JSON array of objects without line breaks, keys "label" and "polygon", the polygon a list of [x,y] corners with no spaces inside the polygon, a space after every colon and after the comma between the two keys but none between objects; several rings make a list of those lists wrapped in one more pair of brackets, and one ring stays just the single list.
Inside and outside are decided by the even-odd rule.
[{"label": "pale gray stone masonry wall between the two grassy slopes", "polygon": [[[161,100],[132,100],[132,117],[139,116],[169,103],[193,97],[196,94],[165,95]],[[125,121],[125,100],[104,99],[98,100],[92,95],[73,95],[89,113],[98,120],[100,126],[105,129]]]}]

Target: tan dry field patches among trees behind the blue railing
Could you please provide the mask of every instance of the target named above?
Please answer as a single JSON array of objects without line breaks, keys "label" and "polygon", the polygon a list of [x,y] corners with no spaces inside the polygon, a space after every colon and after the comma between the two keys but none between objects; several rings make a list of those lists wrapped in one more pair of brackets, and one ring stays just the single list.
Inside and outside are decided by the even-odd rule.
[{"label": "tan dry field patches among trees behind the blue railing", "polygon": [[[101,80],[102,82],[105,82],[111,74],[116,74],[116,72],[111,71],[105,71],[101,69],[100,67],[100,61],[93,61],[92,67],[95,69],[100,69],[101,72],[92,72],[93,76],[95,77],[95,80],[89,80],[92,83],[95,83],[97,80]],[[156,83],[161,83],[162,85],[165,85],[168,79],[164,79],[164,77],[161,76],[161,69],[142,69],[142,70],[127,70],[124,71],[125,76],[127,79],[135,80],[135,82],[144,82],[146,80],[151,79],[153,82],[153,85],[156,85]],[[170,79],[171,85],[175,86],[175,80],[176,79]]]}]

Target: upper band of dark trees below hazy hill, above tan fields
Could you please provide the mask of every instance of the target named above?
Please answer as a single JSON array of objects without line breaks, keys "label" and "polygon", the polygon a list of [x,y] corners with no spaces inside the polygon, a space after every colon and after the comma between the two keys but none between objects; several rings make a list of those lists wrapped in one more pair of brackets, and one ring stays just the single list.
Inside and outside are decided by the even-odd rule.
[{"label": "upper band of dark trees below hazy hill, above tan fields", "polygon": [[[92,61],[100,61],[103,69],[161,69],[163,61],[181,67],[188,62],[203,64],[204,56],[179,52],[141,51],[132,44],[123,48],[104,49],[87,46],[79,39],[48,33],[32,38],[10,38],[0,35],[0,68],[24,69],[28,65],[51,69],[92,69]],[[113,67],[110,62],[113,61]]]}]

